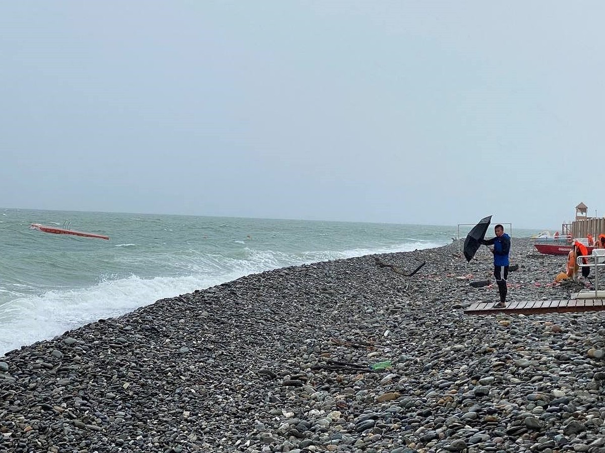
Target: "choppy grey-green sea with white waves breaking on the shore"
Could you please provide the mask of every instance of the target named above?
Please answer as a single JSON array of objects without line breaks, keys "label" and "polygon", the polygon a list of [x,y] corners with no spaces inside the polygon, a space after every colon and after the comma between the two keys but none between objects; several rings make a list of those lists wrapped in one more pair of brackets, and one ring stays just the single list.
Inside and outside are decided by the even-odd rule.
[{"label": "choppy grey-green sea with white waves breaking on the shore", "polygon": [[[110,240],[44,233],[31,229],[31,223]],[[4,209],[0,233],[2,356],[100,318],[243,275],[441,246],[460,231],[457,226]],[[515,236],[534,233],[520,230]]]}]

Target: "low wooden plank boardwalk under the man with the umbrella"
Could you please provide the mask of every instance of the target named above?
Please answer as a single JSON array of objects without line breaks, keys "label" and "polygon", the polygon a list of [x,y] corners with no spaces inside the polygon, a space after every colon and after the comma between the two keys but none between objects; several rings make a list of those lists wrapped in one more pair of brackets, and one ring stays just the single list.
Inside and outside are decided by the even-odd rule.
[{"label": "low wooden plank boardwalk under the man with the umbrella", "polygon": [[537,313],[569,313],[605,310],[604,299],[567,300],[520,300],[507,302],[505,308],[494,308],[495,302],[476,302],[464,312],[468,315],[492,315],[494,313],[534,315]]}]

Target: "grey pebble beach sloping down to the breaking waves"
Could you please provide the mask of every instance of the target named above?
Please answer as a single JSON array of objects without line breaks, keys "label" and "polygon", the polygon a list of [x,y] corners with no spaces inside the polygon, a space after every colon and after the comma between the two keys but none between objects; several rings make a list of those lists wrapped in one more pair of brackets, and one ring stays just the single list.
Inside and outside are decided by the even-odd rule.
[{"label": "grey pebble beach sloping down to the breaking waves", "polygon": [[[247,275],[8,352],[0,452],[605,452],[605,312],[465,314],[498,295],[461,248]],[[508,300],[583,288],[565,262],[513,238]]]}]

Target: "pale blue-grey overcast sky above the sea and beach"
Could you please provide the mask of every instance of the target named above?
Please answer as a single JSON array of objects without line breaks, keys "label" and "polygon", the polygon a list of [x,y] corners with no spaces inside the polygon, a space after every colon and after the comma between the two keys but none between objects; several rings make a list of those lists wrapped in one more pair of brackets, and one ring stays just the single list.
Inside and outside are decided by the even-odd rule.
[{"label": "pale blue-grey overcast sky above the sea and beach", "polygon": [[605,214],[601,1],[0,5],[0,206]]}]

